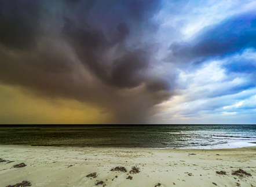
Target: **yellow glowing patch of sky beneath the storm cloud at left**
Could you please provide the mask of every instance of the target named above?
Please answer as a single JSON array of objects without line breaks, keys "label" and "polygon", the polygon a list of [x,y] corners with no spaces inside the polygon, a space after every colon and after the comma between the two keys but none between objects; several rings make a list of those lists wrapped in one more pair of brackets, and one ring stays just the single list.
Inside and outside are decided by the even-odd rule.
[{"label": "yellow glowing patch of sky beneath the storm cloud at left", "polygon": [[89,104],[25,93],[19,87],[0,85],[0,124],[109,123],[113,116]]}]

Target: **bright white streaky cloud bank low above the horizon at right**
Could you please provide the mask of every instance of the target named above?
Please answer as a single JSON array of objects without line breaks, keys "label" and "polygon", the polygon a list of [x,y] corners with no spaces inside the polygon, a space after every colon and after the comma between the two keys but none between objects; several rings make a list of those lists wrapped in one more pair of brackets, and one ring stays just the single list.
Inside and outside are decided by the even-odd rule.
[{"label": "bright white streaky cloud bank low above the horizon at right", "polygon": [[248,79],[240,74],[225,74],[223,63],[225,59],[211,61],[195,71],[180,69],[177,84],[185,87],[177,90],[179,95],[157,105],[158,113],[153,118],[166,123],[209,123],[209,118],[232,122],[240,116],[247,122],[246,112],[256,114],[256,89],[232,91],[237,86],[246,85]]}]

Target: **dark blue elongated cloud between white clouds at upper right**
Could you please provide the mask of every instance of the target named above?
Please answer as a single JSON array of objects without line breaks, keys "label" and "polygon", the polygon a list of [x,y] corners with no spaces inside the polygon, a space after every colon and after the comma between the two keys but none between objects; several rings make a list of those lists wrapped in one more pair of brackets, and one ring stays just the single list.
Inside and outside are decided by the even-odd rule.
[{"label": "dark blue elongated cloud between white clouds at upper right", "polygon": [[247,13],[205,28],[191,42],[173,43],[170,60],[200,63],[255,47],[256,14]]}]

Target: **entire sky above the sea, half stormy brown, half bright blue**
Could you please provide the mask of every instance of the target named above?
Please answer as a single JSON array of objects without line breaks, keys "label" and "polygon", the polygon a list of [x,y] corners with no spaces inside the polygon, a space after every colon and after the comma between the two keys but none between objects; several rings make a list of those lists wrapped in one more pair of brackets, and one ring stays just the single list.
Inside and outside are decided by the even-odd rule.
[{"label": "entire sky above the sea, half stormy brown, half bright blue", "polygon": [[0,124],[256,123],[254,0],[0,0]]}]

